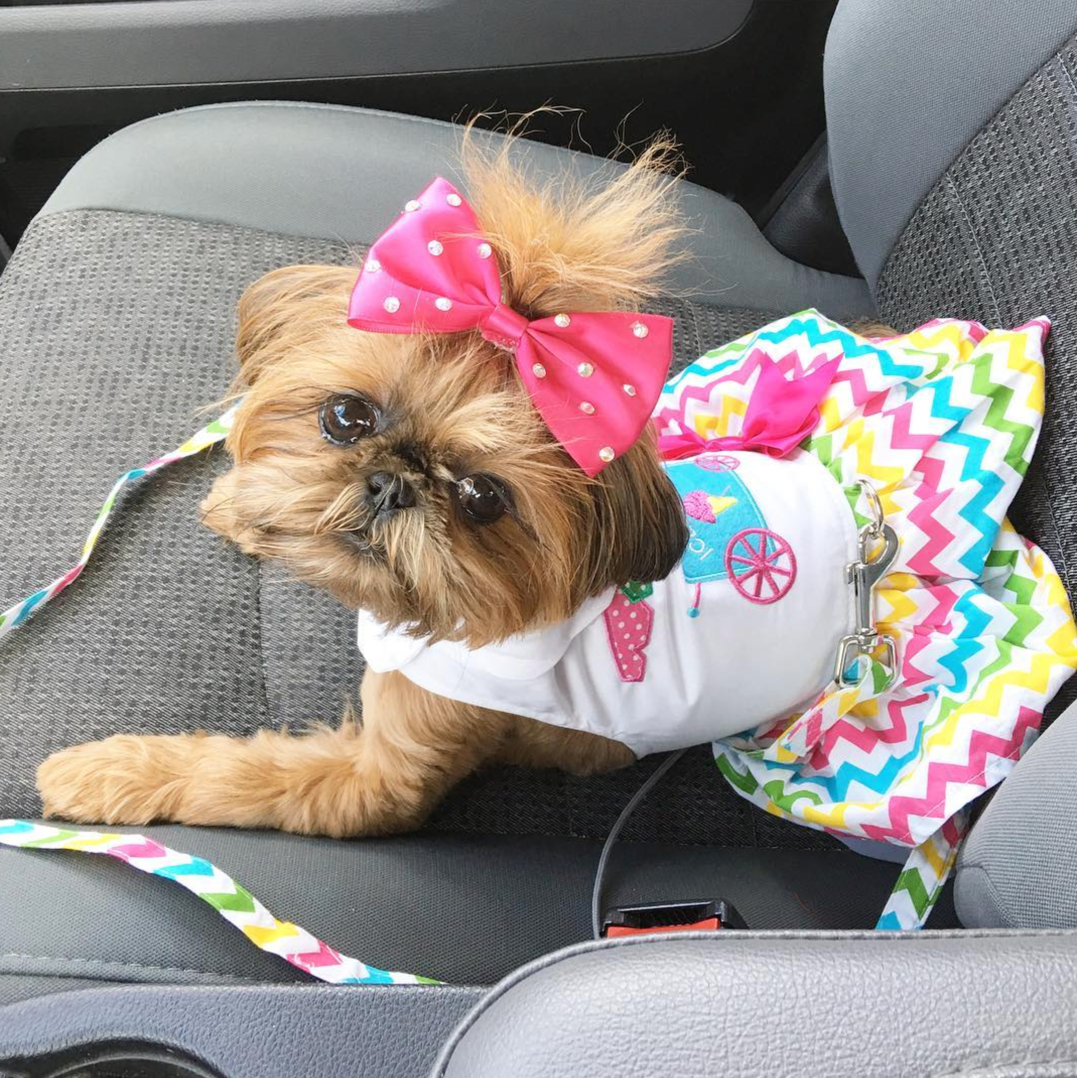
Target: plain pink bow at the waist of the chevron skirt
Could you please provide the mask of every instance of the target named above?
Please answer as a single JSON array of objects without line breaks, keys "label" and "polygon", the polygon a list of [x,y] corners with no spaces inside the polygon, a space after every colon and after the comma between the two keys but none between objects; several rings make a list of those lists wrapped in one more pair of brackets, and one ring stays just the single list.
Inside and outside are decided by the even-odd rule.
[{"label": "plain pink bow at the waist of the chevron skirt", "polygon": [[680,460],[714,450],[754,450],[770,457],[787,457],[819,421],[819,401],[827,395],[840,360],[832,359],[811,374],[786,378],[768,356],[762,356],[738,434],[703,438],[680,425],[676,434],[659,438],[665,460]]}]

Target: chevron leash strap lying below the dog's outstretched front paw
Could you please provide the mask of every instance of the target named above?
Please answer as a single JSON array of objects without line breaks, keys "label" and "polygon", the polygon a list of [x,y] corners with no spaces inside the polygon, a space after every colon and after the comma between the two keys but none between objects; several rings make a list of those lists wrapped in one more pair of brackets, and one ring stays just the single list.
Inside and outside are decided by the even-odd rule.
[{"label": "chevron leash strap lying below the dog's outstretched front paw", "polygon": [[105,854],[139,872],[171,880],[211,906],[254,946],[278,955],[298,969],[329,984],[439,984],[414,973],[377,969],[334,951],[305,928],[278,921],[241,884],[201,857],[181,854],[143,834],[74,831],[32,824],[25,819],[0,820],[0,845],[19,849],[67,849]]}]

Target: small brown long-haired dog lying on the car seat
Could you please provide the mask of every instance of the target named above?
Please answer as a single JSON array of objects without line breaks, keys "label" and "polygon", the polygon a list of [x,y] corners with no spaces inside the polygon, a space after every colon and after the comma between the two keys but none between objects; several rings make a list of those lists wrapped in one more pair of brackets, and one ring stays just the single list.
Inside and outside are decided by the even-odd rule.
[{"label": "small brown long-haired dog lying on the car seat", "polygon": [[[594,190],[536,185],[507,153],[472,151],[468,194],[497,251],[505,302],[536,319],[635,308],[652,295],[681,233],[669,162],[669,147],[655,143]],[[669,573],[688,533],[649,431],[589,479],[510,357],[478,333],[349,328],[355,276],[290,266],[243,296],[235,467],[205,501],[210,527],[349,607],[471,647],[563,622],[611,585]],[[322,428],[329,415],[370,437],[334,445],[319,414]],[[386,484],[406,492],[392,513],[378,511]],[[361,725],[346,715],[339,729],[301,736],[118,735],[66,749],[38,772],[45,812],[381,834],[417,827],[487,762],[585,774],[634,759],[618,742],[434,695],[396,672],[368,672],[361,696]]]}]

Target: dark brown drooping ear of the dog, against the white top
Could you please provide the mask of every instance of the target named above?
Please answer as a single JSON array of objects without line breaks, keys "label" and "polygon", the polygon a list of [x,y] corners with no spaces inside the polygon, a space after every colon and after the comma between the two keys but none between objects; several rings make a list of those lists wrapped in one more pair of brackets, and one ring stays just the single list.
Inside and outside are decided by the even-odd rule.
[{"label": "dark brown drooping ear of the dog, against the white top", "polygon": [[589,593],[630,580],[664,580],[684,556],[688,522],[649,429],[602,471],[594,499],[597,526],[588,554]]}]

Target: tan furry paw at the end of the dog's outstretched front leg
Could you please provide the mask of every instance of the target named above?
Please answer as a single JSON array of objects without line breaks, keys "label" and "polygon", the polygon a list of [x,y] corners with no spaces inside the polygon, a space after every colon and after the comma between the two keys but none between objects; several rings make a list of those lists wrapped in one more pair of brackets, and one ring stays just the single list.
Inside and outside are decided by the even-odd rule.
[{"label": "tan furry paw at the end of the dog's outstretched front leg", "polygon": [[119,734],[54,752],[38,769],[45,815],[81,824],[174,819],[187,741]]}]

